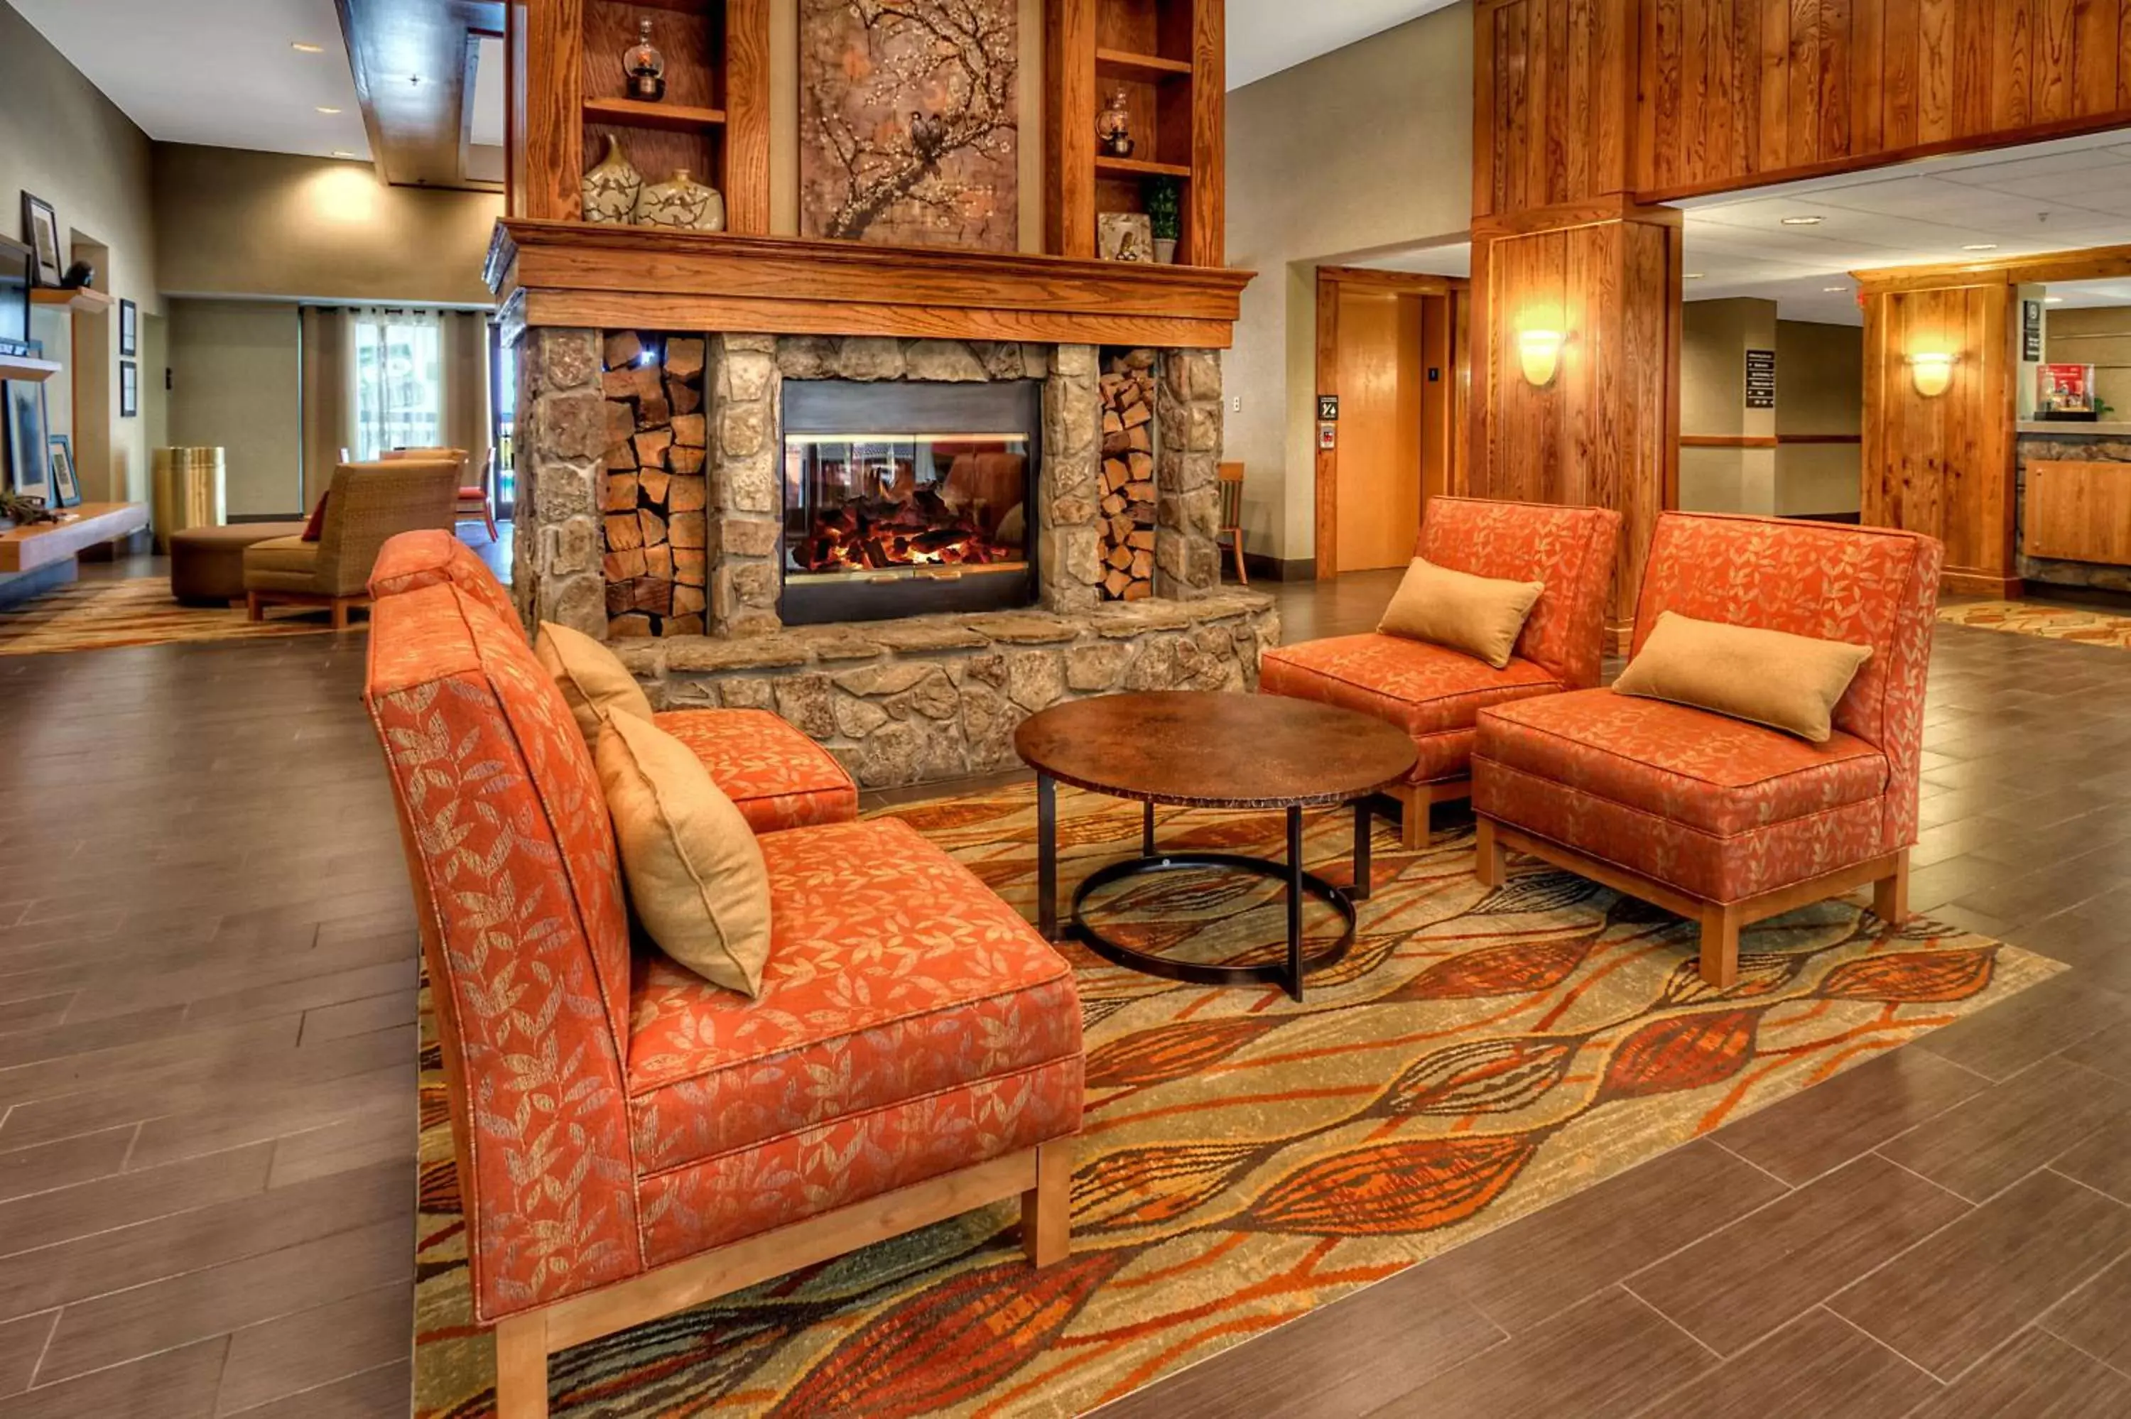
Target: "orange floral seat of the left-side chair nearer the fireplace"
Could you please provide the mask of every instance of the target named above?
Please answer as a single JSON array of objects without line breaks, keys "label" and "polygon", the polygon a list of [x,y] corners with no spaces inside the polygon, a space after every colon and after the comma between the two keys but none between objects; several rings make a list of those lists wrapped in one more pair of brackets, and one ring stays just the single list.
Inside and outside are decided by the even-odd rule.
[{"label": "orange floral seat of the left-side chair nearer the fireplace", "polygon": [[859,786],[835,754],[767,710],[671,710],[652,722],[695,750],[757,833],[859,816]]}]

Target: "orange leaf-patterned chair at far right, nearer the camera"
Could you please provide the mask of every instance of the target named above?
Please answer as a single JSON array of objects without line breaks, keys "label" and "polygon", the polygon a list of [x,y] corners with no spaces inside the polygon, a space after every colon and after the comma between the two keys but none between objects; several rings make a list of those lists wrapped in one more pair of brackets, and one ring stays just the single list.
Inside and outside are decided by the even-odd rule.
[{"label": "orange leaf-patterned chair at far right, nearer the camera", "polygon": [[1637,603],[1871,646],[1826,744],[1613,690],[1479,716],[1479,876],[1517,848],[1701,923],[1703,978],[1728,986],[1739,931],[1873,884],[1907,918],[1924,669],[1941,548],[1888,528],[1664,513]]}]

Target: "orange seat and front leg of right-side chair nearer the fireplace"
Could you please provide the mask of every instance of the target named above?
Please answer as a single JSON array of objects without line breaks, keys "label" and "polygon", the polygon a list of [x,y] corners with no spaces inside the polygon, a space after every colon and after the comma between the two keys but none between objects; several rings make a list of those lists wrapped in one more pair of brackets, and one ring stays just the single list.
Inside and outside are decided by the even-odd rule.
[{"label": "orange seat and front leg of right-side chair nearer the fireplace", "polygon": [[1426,784],[1464,778],[1481,710],[1564,686],[1530,660],[1511,658],[1494,669],[1443,646],[1366,633],[1268,650],[1257,688],[1360,710],[1404,729],[1419,752],[1409,780]]}]

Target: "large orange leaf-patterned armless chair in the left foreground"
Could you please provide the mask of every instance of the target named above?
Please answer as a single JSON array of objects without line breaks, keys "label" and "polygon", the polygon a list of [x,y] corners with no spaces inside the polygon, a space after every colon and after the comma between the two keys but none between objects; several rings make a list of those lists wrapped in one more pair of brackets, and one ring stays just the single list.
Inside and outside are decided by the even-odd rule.
[{"label": "large orange leaf-patterned armless chair in the left foreground", "polygon": [[592,754],[522,631],[381,597],[364,701],[422,923],[499,1419],[548,1355],[1021,1197],[1070,1249],[1068,963],[899,820],[761,837],[759,999],[635,950]]}]

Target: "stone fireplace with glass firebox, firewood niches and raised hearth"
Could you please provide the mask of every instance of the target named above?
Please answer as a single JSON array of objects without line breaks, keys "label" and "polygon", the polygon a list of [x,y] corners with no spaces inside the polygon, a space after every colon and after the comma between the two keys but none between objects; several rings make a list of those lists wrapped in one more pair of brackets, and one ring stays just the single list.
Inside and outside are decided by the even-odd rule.
[{"label": "stone fireplace with glass firebox, firewood niches and raised hearth", "polygon": [[1012,767],[1059,699],[1257,686],[1208,349],[526,328],[516,594],[661,707],[769,707],[863,786]]}]

